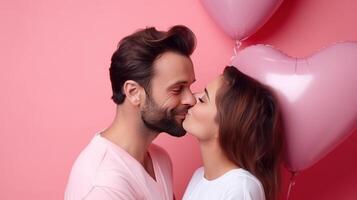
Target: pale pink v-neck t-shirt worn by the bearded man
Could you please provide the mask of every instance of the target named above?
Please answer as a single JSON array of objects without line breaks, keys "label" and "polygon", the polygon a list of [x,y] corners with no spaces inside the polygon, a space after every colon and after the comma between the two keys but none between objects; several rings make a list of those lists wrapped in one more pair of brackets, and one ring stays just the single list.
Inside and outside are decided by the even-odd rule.
[{"label": "pale pink v-neck t-shirt worn by the bearded man", "polygon": [[172,200],[172,164],[152,144],[154,180],[124,149],[96,134],[72,167],[65,200]]}]

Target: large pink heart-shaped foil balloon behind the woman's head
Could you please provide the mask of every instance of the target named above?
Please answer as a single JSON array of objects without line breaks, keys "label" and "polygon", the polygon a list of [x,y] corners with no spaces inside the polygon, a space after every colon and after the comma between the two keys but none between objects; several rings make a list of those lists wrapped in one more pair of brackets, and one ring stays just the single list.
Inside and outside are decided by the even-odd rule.
[{"label": "large pink heart-shaped foil balloon behind the woman's head", "polygon": [[255,45],[240,51],[232,65],[277,94],[291,171],[315,164],[357,127],[357,42],[301,59]]}]

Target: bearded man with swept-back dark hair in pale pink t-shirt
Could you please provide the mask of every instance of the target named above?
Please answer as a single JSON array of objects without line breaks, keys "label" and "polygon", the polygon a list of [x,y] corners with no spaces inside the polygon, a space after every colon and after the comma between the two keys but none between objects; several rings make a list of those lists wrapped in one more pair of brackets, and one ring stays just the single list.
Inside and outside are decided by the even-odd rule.
[{"label": "bearded man with swept-back dark hair in pale pink t-shirt", "polygon": [[184,26],[146,28],[120,41],[110,66],[116,116],[77,158],[66,200],[174,198],[171,160],[152,141],[161,132],[186,134],[182,121],[196,103],[195,42]]}]

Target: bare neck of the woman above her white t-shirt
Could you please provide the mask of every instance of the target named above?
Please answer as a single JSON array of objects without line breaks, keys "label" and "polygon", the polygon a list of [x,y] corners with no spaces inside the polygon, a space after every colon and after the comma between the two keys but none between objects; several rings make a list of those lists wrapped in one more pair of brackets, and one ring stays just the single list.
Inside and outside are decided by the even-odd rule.
[{"label": "bare neck of the woman above her white t-shirt", "polygon": [[206,179],[216,179],[226,172],[238,168],[227,158],[217,141],[200,142],[200,149]]}]

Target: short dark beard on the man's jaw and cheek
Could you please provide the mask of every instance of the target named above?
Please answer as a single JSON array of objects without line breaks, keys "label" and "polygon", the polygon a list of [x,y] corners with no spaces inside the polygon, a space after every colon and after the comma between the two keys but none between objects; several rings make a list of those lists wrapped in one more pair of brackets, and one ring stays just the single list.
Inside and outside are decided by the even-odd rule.
[{"label": "short dark beard on the man's jaw and cheek", "polygon": [[147,128],[159,133],[166,132],[175,137],[182,137],[186,134],[182,124],[175,120],[175,114],[177,114],[175,110],[160,109],[153,99],[146,97],[145,106],[141,110],[141,119]]}]

